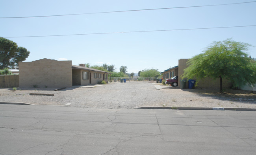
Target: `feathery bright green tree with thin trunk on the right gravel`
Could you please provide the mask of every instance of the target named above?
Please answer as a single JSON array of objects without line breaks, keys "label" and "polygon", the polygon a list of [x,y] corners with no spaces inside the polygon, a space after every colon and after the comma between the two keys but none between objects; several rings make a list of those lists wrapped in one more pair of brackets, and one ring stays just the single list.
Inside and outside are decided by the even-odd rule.
[{"label": "feathery bright green tree with thin trunk on the right gravel", "polygon": [[228,79],[233,87],[246,83],[256,83],[256,61],[243,52],[250,44],[235,42],[232,39],[213,42],[203,51],[187,62],[182,78],[202,79],[210,77],[220,79],[220,92],[223,92],[222,79]]}]

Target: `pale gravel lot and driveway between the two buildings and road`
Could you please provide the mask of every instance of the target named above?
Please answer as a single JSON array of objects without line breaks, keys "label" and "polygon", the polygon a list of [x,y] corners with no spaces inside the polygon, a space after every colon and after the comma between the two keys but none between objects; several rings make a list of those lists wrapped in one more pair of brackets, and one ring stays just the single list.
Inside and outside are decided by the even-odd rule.
[{"label": "pale gravel lot and driveway between the two buildings and road", "polygon": [[[154,85],[163,89],[157,90]],[[36,89],[36,90],[35,90]],[[65,105],[91,108],[158,107],[243,107],[256,108],[256,94],[240,90],[219,94],[210,89],[173,89],[152,82],[109,83],[100,87],[0,89],[0,101],[39,105]],[[54,94],[32,96],[30,93]]]}]

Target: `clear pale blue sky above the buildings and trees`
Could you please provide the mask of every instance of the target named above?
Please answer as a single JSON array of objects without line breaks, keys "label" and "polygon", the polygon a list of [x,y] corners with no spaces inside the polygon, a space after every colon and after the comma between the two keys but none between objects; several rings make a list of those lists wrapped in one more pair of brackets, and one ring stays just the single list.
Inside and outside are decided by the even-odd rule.
[{"label": "clear pale blue sky above the buildings and trees", "polygon": [[[204,6],[252,0],[0,0],[0,17],[66,15],[167,7]],[[0,18],[0,37],[27,48],[26,61],[48,58],[72,60],[73,65],[113,64],[128,73],[143,69],[160,72],[178,65],[178,59],[200,54],[213,41],[232,38],[252,44],[256,57],[256,26],[206,30],[180,30],[256,25],[256,2],[224,6],[129,11],[41,18]],[[177,30],[179,29],[179,30]],[[22,37],[69,35],[54,37]]]}]

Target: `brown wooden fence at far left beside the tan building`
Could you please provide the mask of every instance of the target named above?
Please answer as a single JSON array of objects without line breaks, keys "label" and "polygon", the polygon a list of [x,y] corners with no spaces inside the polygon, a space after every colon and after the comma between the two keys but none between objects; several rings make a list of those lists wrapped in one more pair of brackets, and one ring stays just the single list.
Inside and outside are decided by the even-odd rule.
[{"label": "brown wooden fence at far left beside the tan building", "polygon": [[19,75],[0,75],[0,88],[19,87]]}]

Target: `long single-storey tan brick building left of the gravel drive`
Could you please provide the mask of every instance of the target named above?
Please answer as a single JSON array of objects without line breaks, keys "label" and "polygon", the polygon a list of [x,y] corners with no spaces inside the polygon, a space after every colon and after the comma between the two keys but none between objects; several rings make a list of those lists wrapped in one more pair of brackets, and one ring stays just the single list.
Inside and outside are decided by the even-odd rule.
[{"label": "long single-storey tan brick building left of the gravel drive", "polygon": [[40,59],[19,63],[19,87],[72,87],[108,82],[109,72],[72,65],[72,61]]}]

